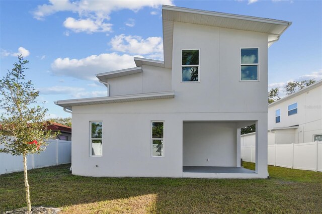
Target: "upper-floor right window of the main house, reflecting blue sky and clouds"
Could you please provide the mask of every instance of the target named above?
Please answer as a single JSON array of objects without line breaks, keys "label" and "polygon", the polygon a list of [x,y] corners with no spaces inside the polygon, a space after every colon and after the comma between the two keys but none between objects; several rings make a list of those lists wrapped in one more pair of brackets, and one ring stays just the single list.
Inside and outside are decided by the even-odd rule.
[{"label": "upper-floor right window of the main house, reflecting blue sky and clouds", "polygon": [[240,81],[258,81],[258,48],[240,49]]}]

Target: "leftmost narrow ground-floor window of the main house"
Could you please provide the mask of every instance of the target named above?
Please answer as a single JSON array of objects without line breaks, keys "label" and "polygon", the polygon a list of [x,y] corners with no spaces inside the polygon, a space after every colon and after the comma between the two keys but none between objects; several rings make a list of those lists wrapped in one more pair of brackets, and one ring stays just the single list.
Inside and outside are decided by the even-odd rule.
[{"label": "leftmost narrow ground-floor window of the main house", "polygon": [[102,122],[91,122],[91,155],[102,156]]}]

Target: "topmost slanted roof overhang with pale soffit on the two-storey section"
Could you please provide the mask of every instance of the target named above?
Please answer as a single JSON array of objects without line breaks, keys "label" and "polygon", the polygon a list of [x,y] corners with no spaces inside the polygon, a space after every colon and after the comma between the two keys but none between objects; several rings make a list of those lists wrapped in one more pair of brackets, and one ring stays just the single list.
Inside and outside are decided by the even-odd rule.
[{"label": "topmost slanted roof overhang with pale soffit on the two-storey section", "polygon": [[202,11],[173,6],[162,7],[165,67],[172,67],[174,22],[184,22],[220,28],[254,31],[268,34],[268,46],[279,39],[292,22]]}]

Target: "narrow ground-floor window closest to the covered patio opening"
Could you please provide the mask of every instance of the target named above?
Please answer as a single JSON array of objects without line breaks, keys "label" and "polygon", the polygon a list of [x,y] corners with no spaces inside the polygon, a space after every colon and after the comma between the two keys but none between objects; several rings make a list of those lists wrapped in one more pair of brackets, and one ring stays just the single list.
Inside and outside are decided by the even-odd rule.
[{"label": "narrow ground-floor window closest to the covered patio opening", "polygon": [[152,121],[152,157],[164,157],[164,122]]}]

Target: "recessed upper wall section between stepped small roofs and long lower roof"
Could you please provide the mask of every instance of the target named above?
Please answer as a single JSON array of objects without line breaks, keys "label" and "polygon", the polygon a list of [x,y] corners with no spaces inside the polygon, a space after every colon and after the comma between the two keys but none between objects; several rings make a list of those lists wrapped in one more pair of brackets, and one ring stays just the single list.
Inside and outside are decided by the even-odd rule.
[{"label": "recessed upper wall section between stepped small roofs and long lower roof", "polygon": [[110,96],[171,90],[171,69],[142,66],[143,72],[108,79]]}]

